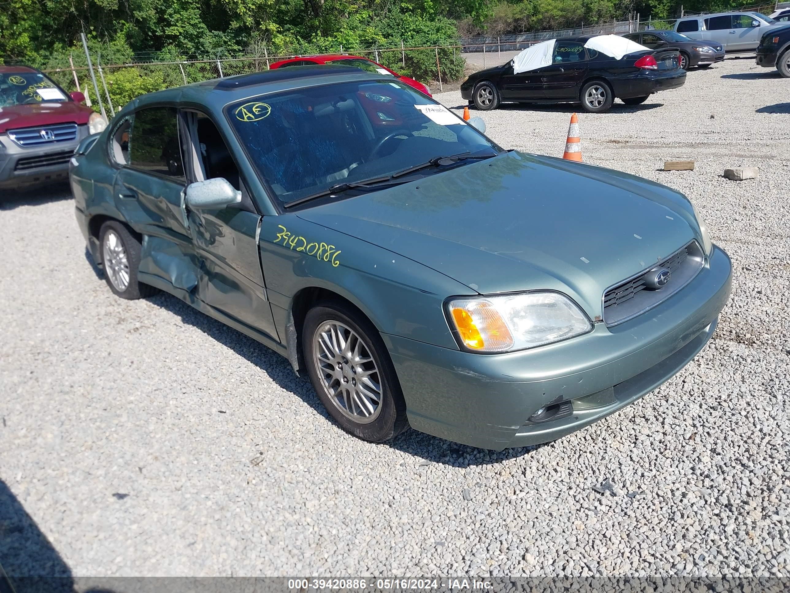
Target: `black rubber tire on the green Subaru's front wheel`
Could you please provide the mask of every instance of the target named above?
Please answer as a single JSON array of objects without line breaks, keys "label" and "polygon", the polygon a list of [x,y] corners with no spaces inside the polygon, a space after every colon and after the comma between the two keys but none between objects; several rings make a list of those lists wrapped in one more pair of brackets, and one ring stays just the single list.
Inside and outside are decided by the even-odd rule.
[{"label": "black rubber tire on the green Subaru's front wheel", "polygon": [[[325,328],[325,324],[327,323],[340,323],[345,329],[352,330],[357,334],[358,338],[362,338],[361,342],[364,349],[359,350],[359,357],[361,359],[367,358],[367,356],[363,356],[362,354],[364,350],[367,350],[367,353],[369,353],[372,358],[372,363],[375,365],[374,368],[377,370],[371,375],[371,379],[374,377],[378,378],[378,385],[380,387],[380,400],[376,411],[374,414],[371,414],[371,416],[374,416],[372,420],[362,421],[363,416],[361,414],[348,414],[348,406],[345,404],[341,405],[336,398],[329,395],[327,389],[324,387],[324,377],[327,375],[329,375],[329,378],[332,377],[327,369],[332,368],[333,370],[331,373],[334,373],[334,365],[329,364],[328,366],[318,368],[318,362],[316,361],[317,357],[314,356],[314,345],[316,344],[318,330]],[[352,338],[349,338],[348,342],[352,343]],[[323,352],[326,353],[327,349],[323,349]],[[408,428],[406,402],[403,398],[403,392],[401,391],[401,383],[397,380],[395,368],[393,367],[392,361],[389,359],[389,353],[387,352],[386,346],[384,346],[382,337],[373,323],[354,308],[335,301],[325,301],[311,308],[310,311],[307,312],[303,323],[302,353],[307,366],[307,373],[310,375],[310,382],[313,383],[318,398],[321,399],[324,407],[335,421],[337,421],[337,424],[346,432],[349,432],[359,439],[368,440],[373,443],[383,443],[393,439],[403,432],[404,429]],[[358,372],[355,368],[364,369],[370,372],[370,366],[367,368],[363,367],[363,364],[370,365],[370,362],[352,365],[347,363],[353,361],[347,361],[345,357],[342,358],[344,362],[340,362],[339,364],[341,364],[343,368],[338,368],[338,374],[350,376],[351,380],[355,382],[355,376],[352,375],[352,373],[355,374]],[[326,362],[328,362],[328,360],[325,359],[325,364]],[[359,372],[363,371],[360,370]],[[329,378],[327,380],[329,380]],[[337,380],[337,377],[331,380]],[[333,383],[330,383],[330,386],[331,384]],[[337,393],[340,393],[340,391],[350,391],[352,389],[352,387],[350,387],[351,383],[347,382],[345,384],[349,387],[343,387],[343,383],[340,383],[338,380],[338,387],[340,387],[340,390]],[[355,383],[355,385],[361,386],[362,383]],[[350,400],[351,398],[352,395],[348,395],[348,399]],[[347,401],[345,397],[344,401]],[[356,399],[355,402],[359,402],[359,399]],[[370,400],[368,400],[368,402],[370,403]],[[352,402],[352,412],[355,410],[353,406],[354,403]],[[362,406],[358,407],[361,410]],[[353,415],[359,417],[360,421],[352,420],[350,416]]]}]

